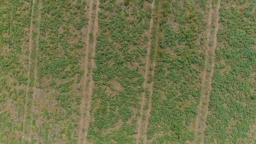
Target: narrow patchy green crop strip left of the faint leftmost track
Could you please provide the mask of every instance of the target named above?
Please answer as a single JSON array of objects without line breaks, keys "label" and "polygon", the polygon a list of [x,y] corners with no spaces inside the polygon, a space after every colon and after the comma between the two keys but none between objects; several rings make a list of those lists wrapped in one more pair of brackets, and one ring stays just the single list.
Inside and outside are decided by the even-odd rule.
[{"label": "narrow patchy green crop strip left of the faint leftmost track", "polygon": [[0,143],[21,138],[31,5],[0,2]]}]

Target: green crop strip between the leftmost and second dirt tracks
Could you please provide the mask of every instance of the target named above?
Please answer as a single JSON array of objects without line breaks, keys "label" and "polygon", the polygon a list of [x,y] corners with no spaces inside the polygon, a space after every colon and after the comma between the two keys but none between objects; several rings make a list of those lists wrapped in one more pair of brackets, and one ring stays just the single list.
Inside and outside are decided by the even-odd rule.
[{"label": "green crop strip between the leftmost and second dirt tracks", "polygon": [[44,141],[77,139],[86,1],[43,0],[35,117]]}]

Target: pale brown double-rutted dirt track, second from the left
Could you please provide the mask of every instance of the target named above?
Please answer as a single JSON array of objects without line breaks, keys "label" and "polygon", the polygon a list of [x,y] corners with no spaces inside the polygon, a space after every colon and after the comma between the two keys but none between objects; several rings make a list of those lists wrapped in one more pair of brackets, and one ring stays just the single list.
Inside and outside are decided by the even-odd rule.
[{"label": "pale brown double-rutted dirt track, second from the left", "polygon": [[[93,0],[88,0],[88,27],[87,27],[87,34],[85,37],[85,60],[84,60],[84,65],[85,65],[85,73],[84,73],[84,80],[83,80],[83,91],[82,91],[82,99],[81,99],[81,105],[80,105],[80,112],[81,112],[81,117],[80,117],[80,122],[79,122],[79,132],[78,132],[78,144],[86,144],[87,143],[87,130],[89,127],[89,121],[90,121],[90,108],[91,108],[91,96],[92,96],[92,91],[93,91],[93,80],[92,80],[92,69],[95,67],[94,63],[94,56],[95,56],[95,47],[96,47],[96,34],[98,31],[98,11],[99,11],[99,0],[96,0],[96,11],[95,11],[95,20],[93,24]],[[93,44],[90,45],[90,37],[89,34],[93,31]],[[91,54],[92,60],[89,61],[88,55]],[[91,62],[91,70],[90,70],[90,75],[88,76],[88,67],[89,67],[89,62]],[[89,79],[89,84],[87,86]],[[85,108],[85,103],[86,103],[86,108]],[[85,114],[86,113],[86,114]],[[83,134],[83,131],[85,133]]]}]

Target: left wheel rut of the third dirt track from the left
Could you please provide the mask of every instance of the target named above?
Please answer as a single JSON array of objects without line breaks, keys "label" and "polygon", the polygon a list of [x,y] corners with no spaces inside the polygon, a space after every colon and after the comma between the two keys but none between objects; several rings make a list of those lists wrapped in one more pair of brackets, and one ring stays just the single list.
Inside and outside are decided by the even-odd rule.
[{"label": "left wheel rut of the third dirt track from the left", "polygon": [[[143,83],[143,88],[144,90],[147,89],[147,83],[148,83],[148,75],[149,75],[149,64],[150,64],[150,53],[151,53],[151,46],[152,46],[152,40],[151,40],[151,35],[152,35],[152,29],[153,29],[153,24],[154,24],[154,14],[155,14],[155,1],[153,0],[152,5],[151,5],[151,19],[150,19],[150,24],[149,24],[149,35],[148,35],[148,46],[147,46],[147,57],[146,57],[146,66],[145,66],[145,74],[144,74],[144,83]],[[138,119],[138,126],[137,126],[137,136],[136,136],[136,144],[139,144],[139,141],[141,139],[141,130],[142,130],[142,118],[143,118],[143,109],[145,106],[146,102],[146,93],[143,92],[141,94],[141,109],[140,109],[140,117]],[[149,101],[150,102],[150,101]]]}]

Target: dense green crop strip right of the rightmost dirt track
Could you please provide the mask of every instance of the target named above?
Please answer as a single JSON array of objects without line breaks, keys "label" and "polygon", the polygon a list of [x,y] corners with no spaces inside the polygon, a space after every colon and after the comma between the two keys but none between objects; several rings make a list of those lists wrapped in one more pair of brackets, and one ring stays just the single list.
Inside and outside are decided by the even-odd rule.
[{"label": "dense green crop strip right of the rightmost dirt track", "polygon": [[236,0],[221,5],[206,143],[255,142],[248,135],[256,123],[255,4]]}]

